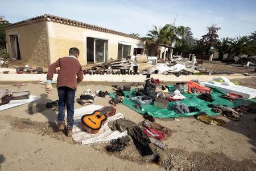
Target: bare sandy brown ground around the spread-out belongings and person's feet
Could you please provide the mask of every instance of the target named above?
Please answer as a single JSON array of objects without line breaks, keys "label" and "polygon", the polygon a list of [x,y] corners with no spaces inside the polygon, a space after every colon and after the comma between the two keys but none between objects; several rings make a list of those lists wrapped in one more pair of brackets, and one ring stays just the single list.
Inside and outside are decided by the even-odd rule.
[{"label": "bare sandy brown ground around the spread-out belongings and person's feet", "polygon": [[[256,88],[255,80],[236,81]],[[88,88],[112,92],[112,84],[81,83],[76,96]],[[241,122],[216,116],[226,121],[223,127],[207,125],[194,117],[179,118],[180,121],[156,118],[156,122],[173,131],[164,140],[168,148],[163,151],[150,144],[154,155],[141,157],[133,142],[122,152],[110,153],[105,151],[107,144],[81,146],[65,132],[57,132],[57,113],[45,107],[46,102],[57,100],[56,88],[49,95],[38,83],[27,83],[22,88],[1,83],[0,89],[4,88],[29,89],[41,98],[0,112],[1,170],[256,170],[255,114],[246,114]],[[109,100],[96,97],[94,104],[108,105]],[[76,109],[80,107],[75,104]],[[117,105],[117,110],[136,123],[143,121],[141,114],[122,104]]]}]

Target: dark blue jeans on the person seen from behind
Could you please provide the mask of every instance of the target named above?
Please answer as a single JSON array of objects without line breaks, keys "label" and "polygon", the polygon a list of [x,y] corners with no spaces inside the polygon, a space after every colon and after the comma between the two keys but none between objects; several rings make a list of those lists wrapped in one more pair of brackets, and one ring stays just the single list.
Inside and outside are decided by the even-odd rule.
[{"label": "dark blue jeans on the person seen from behind", "polygon": [[75,90],[69,87],[59,87],[58,96],[59,96],[59,113],[57,116],[57,120],[59,122],[64,121],[65,117],[65,106],[67,105],[67,122],[68,127],[73,127],[74,125],[74,102],[75,102]]}]

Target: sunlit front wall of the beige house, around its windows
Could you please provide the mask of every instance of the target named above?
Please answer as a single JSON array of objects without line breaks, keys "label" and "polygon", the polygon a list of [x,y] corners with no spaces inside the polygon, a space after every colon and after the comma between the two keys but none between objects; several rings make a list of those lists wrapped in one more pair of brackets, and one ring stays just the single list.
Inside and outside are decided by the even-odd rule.
[{"label": "sunlit front wall of the beige house, around its windows", "polygon": [[69,48],[76,47],[80,50],[79,61],[81,65],[86,65],[86,37],[108,40],[108,59],[117,59],[118,41],[129,42],[132,44],[130,52],[131,55],[133,54],[134,44],[145,44],[144,41],[132,39],[129,37],[93,31],[91,29],[85,29],[55,22],[47,22],[47,29],[51,63],[60,57],[68,55]]}]

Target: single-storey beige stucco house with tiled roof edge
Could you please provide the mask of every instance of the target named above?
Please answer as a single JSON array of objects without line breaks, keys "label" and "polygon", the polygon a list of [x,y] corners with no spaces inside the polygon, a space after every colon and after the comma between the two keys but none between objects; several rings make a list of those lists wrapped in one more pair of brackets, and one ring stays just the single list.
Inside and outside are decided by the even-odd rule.
[{"label": "single-storey beige stucco house with tiled roof edge", "polygon": [[144,53],[146,42],[126,33],[44,14],[5,27],[10,58],[48,66],[80,50],[81,65]]}]

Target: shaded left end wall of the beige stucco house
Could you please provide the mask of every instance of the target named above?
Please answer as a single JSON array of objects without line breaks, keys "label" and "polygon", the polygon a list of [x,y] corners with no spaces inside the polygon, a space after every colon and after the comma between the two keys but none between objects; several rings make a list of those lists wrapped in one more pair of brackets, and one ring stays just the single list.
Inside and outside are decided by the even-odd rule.
[{"label": "shaded left end wall of the beige stucco house", "polygon": [[18,35],[22,61],[36,63],[39,66],[48,65],[47,29],[45,21],[6,29],[7,49],[9,50],[10,57],[13,57],[10,35]]}]

